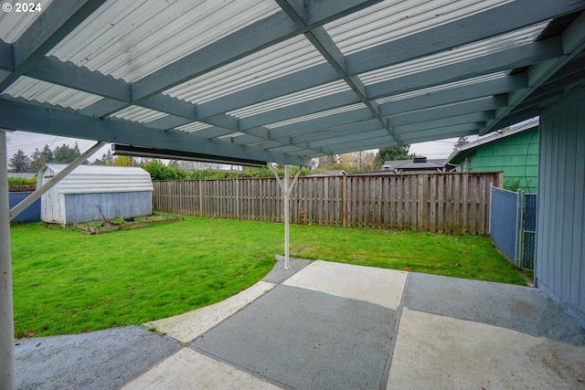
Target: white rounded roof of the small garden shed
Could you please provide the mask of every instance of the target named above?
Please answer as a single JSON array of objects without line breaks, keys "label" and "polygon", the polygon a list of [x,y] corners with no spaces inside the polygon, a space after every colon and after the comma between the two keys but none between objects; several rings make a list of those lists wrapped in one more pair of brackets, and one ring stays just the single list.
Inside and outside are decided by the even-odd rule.
[{"label": "white rounded roof of the small garden shed", "polygon": [[[47,163],[39,175],[44,181],[67,164]],[[80,165],[53,187],[58,194],[103,194],[153,191],[150,174],[139,167]]]}]

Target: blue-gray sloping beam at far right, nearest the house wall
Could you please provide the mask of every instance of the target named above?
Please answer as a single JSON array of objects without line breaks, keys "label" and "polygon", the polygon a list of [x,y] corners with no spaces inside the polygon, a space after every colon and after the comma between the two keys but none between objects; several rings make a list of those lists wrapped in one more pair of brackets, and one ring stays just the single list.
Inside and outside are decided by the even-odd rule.
[{"label": "blue-gray sloping beam at far right, nearest the house wall", "polygon": [[549,59],[548,61],[540,62],[528,68],[527,74],[529,88],[512,92],[509,97],[508,107],[496,111],[496,118],[489,121],[480,133],[484,134],[495,130],[494,127],[498,122],[504,119],[509,112],[514,111],[518,104],[522,103],[522,101],[527,99],[531,93],[537,90],[542,84],[546,83],[549,78],[553,77],[554,74],[569,63],[571,59],[580,55],[585,49],[585,12],[581,12],[580,16],[578,16],[577,19],[575,19],[573,23],[563,31],[561,38],[564,56]]}]

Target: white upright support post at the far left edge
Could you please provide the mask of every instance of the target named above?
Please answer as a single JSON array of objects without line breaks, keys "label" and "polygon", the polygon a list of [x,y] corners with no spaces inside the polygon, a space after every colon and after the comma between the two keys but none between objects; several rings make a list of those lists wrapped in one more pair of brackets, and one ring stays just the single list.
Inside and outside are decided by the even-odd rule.
[{"label": "white upright support post at the far left edge", "polygon": [[0,388],[15,388],[15,322],[12,300],[6,132],[0,129]]}]

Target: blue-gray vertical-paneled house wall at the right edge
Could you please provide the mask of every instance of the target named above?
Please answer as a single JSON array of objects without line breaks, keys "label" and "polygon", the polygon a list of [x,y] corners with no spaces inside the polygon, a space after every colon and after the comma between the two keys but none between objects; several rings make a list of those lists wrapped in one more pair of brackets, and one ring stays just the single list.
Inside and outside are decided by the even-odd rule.
[{"label": "blue-gray vertical-paneled house wall at the right edge", "polygon": [[585,94],[540,119],[538,287],[585,327]]}]

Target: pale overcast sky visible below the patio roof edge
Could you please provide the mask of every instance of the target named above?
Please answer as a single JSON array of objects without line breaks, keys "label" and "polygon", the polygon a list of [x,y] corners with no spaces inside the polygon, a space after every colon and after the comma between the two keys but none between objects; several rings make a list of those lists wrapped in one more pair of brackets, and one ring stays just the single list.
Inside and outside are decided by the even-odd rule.
[{"label": "pale overcast sky visible below the patio roof edge", "polygon": [[[95,141],[88,141],[75,138],[57,137],[54,135],[37,134],[35,132],[8,132],[8,142],[6,145],[6,154],[10,158],[18,149],[22,149],[28,156],[30,156],[35,149],[42,150],[45,144],[48,144],[51,150],[55,150],[57,146],[62,144],[69,144],[73,146],[75,142],[78,143],[81,153],[90,149]],[[468,137],[469,141],[475,141],[475,136]],[[452,153],[453,143],[457,141],[456,138],[448,140],[441,140],[435,142],[421,142],[410,145],[410,153],[416,153],[426,156],[430,159],[447,158]],[[104,146],[97,153],[90,157],[90,161],[96,158],[101,158],[103,153],[106,153],[111,146]]]}]

